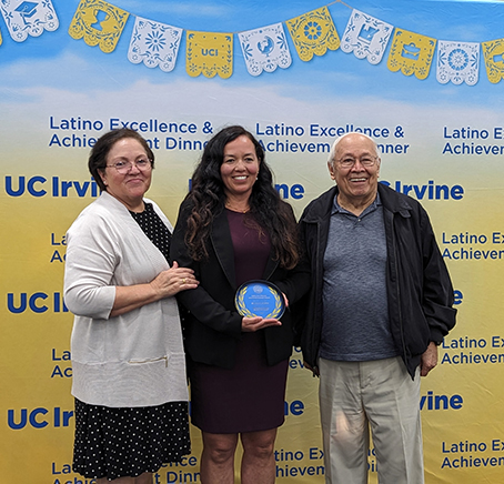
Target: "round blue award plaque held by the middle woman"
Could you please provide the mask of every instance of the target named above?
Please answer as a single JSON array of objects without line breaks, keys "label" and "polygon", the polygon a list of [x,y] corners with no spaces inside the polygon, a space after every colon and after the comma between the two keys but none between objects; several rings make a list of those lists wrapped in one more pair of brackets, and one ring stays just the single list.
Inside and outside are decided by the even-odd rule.
[{"label": "round blue award plaque held by the middle woman", "polygon": [[279,288],[268,281],[249,281],[242,284],[234,296],[234,305],[242,316],[280,319],[285,311],[285,301]]}]

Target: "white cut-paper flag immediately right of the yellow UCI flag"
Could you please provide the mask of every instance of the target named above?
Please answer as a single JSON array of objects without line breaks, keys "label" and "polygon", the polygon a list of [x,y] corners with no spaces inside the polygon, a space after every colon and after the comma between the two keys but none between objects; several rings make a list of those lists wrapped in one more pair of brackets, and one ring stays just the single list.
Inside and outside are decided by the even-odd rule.
[{"label": "white cut-paper flag immediately right of the yellow UCI flag", "polygon": [[286,69],[291,65],[292,58],[282,23],[248,30],[238,36],[246,70],[251,75],[259,75],[263,70],[273,72],[276,67]]}]

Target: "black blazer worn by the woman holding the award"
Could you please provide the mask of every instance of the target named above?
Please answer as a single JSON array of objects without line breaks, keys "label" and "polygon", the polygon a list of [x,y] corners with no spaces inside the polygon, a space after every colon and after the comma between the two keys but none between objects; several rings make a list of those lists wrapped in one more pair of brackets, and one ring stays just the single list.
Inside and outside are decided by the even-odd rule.
[{"label": "black blazer worn by the woman holding the award", "polygon": [[[209,259],[194,262],[189,256],[184,243],[187,220],[191,210],[192,202],[185,200],[180,206],[170,249],[171,261],[177,261],[180,266],[193,269],[200,281],[198,289],[182,291],[177,295],[179,303],[187,310],[182,323],[185,352],[193,361],[232,369],[236,342],[242,336],[242,316],[234,307],[238,285],[228,218],[222,208],[214,216],[210,241],[206,244]],[[294,218],[293,213],[292,216]],[[286,295],[290,306],[309,290],[310,285],[308,268],[299,266],[293,271],[286,271],[273,260],[273,254],[270,255],[263,279],[278,285]],[[281,326],[261,330],[264,331],[269,365],[286,360],[292,353],[294,332],[289,309],[281,321]]]}]

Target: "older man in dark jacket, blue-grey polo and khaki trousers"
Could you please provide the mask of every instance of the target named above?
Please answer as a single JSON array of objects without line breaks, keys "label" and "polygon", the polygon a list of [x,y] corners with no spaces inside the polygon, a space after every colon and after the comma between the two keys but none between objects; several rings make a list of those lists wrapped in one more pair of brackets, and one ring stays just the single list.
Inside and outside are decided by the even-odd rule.
[{"label": "older man in dark jacket, blue-grey polo and khaki trousers", "polygon": [[375,142],[337,139],[336,182],[301,221],[312,269],[302,350],[320,375],[326,482],[367,482],[370,431],[381,484],[421,484],[420,375],[455,324],[453,288],[427,213],[379,183]]}]

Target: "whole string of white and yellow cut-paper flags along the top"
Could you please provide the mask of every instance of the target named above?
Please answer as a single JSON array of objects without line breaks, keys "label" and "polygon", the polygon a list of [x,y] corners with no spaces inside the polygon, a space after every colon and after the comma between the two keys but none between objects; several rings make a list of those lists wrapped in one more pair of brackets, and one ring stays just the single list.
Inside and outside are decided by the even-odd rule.
[{"label": "whole string of white and yellow cut-paper flags along the top", "polygon": [[[340,37],[329,7],[342,3],[352,10]],[[54,31],[59,20],[52,0],[0,0],[0,9],[10,37],[23,42]],[[130,12],[103,0],[81,0],[69,27],[69,34],[90,47],[112,52],[121,38]],[[184,29],[135,18],[128,49],[128,60],[163,72],[174,69]],[[480,78],[481,56],[492,83],[504,78],[504,39],[484,42],[437,40],[394,27],[365,12],[352,9],[342,0],[286,20],[286,30],[299,58],[341,49],[357,59],[379,64],[391,44],[386,65],[392,72],[426,79],[435,59],[436,80],[446,84],[474,85]],[[191,77],[215,75],[228,79],[233,73],[233,38],[238,36],[246,70],[251,75],[286,69],[292,63],[291,49],[282,22],[242,32],[202,32],[185,30],[185,71]],[[2,37],[0,30],[0,47]],[[437,48],[437,56],[436,53]],[[481,49],[480,49],[481,48]]]}]

